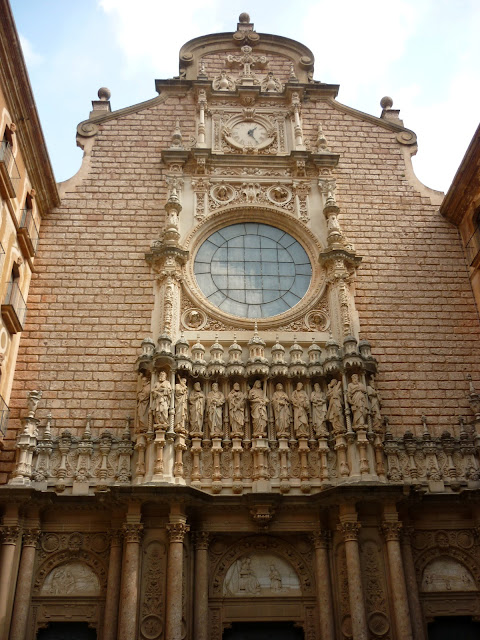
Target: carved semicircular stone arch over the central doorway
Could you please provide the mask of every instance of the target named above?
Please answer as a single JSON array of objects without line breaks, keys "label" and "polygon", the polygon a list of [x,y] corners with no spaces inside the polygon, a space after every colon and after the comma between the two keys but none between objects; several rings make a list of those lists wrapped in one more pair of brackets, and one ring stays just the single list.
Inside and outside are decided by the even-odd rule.
[{"label": "carved semicircular stone arch over the central doorway", "polygon": [[[314,595],[315,581],[310,567],[290,544],[280,538],[271,536],[249,536],[234,542],[226,552],[222,554],[214,567],[210,584],[211,595],[213,597],[238,595],[238,592],[232,593],[231,588],[226,585],[225,580],[227,575],[231,575],[231,573],[229,574],[229,571],[231,572],[235,563],[245,560],[246,558],[250,558],[250,560],[252,560],[254,557],[262,558],[263,561],[268,561],[270,557],[278,558],[278,567],[275,565],[275,562],[272,561],[269,564],[273,564],[274,568],[272,569],[268,566],[264,571],[264,574],[265,572],[268,573],[268,578],[272,581],[272,584],[276,582],[278,586],[279,578],[275,575],[275,569],[278,571],[279,569],[288,566],[291,569],[292,575],[294,575],[298,580],[298,592],[296,593],[295,580],[290,577],[288,589],[291,591],[291,595],[298,595],[298,597]],[[270,571],[272,571],[272,575],[270,575]],[[256,588],[252,587],[252,584],[255,585],[255,582],[253,581],[254,578],[258,583]],[[262,593],[265,595],[275,595],[275,589],[277,587],[274,587],[271,593],[265,593],[265,591],[268,592],[268,589],[263,588],[265,579],[266,575],[254,576],[252,578],[252,582],[247,587],[247,591],[250,591],[247,595],[255,595],[253,593],[254,591],[257,591],[256,595],[261,595]]]}]

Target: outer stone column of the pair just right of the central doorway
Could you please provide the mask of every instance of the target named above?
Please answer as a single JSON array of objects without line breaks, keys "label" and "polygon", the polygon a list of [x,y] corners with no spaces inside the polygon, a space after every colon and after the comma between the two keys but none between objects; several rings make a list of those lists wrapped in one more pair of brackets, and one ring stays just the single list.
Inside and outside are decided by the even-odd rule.
[{"label": "outer stone column of the pair just right of the central doorway", "polygon": [[360,549],[358,546],[359,530],[360,523],[357,522],[355,507],[348,504],[340,505],[340,531],[343,533],[345,540],[352,636],[353,640],[368,640]]}]

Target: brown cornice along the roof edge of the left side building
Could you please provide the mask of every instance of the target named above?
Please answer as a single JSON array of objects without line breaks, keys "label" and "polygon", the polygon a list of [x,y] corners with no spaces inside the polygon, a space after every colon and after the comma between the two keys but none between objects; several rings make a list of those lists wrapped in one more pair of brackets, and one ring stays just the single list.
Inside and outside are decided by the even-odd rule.
[{"label": "brown cornice along the roof edge of the left side building", "polygon": [[0,0],[0,83],[41,214],[60,204],[20,40],[8,0]]}]

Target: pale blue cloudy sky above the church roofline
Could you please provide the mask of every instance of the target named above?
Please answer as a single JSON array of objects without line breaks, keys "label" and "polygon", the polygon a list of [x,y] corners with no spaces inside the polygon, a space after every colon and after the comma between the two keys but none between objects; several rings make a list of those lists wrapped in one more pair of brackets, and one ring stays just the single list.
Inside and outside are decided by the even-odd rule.
[{"label": "pale blue cloudy sky above the church roofline", "polygon": [[315,80],[379,116],[383,96],[418,137],[418,178],[447,191],[480,119],[479,0],[10,0],[57,181],[79,169],[76,126],[106,86],[112,110],[155,97],[178,52],[207,33],[255,30],[302,42]]}]

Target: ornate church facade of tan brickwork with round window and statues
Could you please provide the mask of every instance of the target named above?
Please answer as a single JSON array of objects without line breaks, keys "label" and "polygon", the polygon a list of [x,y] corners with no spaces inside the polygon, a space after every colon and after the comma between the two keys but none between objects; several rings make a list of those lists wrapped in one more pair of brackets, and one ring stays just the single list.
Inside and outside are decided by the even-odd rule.
[{"label": "ornate church facade of tan brickwork with round window and statues", "polygon": [[480,325],[415,134],[247,14],[179,64],[99,90],[42,221],[2,637],[477,637]]}]

